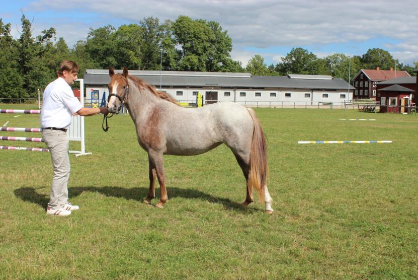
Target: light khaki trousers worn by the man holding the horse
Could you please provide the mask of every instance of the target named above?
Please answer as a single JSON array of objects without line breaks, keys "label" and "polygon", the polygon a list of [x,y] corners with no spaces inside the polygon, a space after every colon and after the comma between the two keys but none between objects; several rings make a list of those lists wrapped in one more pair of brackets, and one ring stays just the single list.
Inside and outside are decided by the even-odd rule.
[{"label": "light khaki trousers worn by the man holding the horse", "polygon": [[51,154],[54,175],[52,177],[51,198],[48,206],[61,208],[68,201],[68,178],[70,162],[68,156],[69,140],[67,133],[61,130],[44,129],[42,138]]}]

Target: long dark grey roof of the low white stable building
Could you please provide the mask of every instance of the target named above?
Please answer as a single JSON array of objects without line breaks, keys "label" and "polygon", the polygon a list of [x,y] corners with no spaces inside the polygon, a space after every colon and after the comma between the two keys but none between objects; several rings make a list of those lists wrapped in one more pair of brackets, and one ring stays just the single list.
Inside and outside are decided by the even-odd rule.
[{"label": "long dark grey roof of the low white stable building", "polygon": [[[122,73],[122,70],[115,70]],[[226,87],[226,88],[294,88],[348,90],[349,84],[342,79],[290,79],[278,76],[251,76],[249,73],[175,72],[175,71],[129,71],[135,76],[159,88],[163,87]],[[84,75],[86,85],[107,85],[110,81],[108,70],[87,69]],[[354,87],[350,86],[350,90]]]}]

